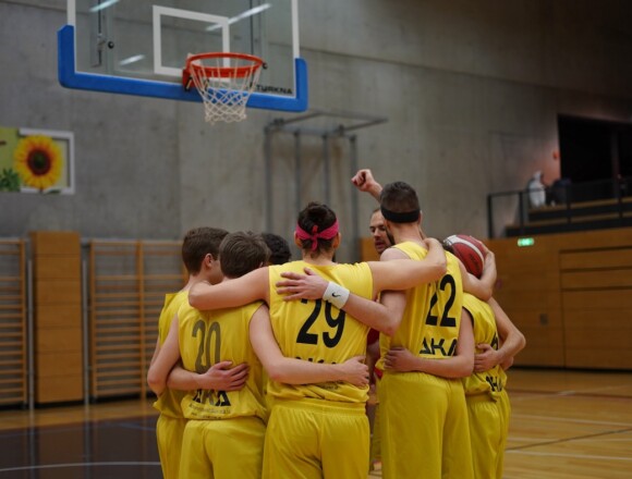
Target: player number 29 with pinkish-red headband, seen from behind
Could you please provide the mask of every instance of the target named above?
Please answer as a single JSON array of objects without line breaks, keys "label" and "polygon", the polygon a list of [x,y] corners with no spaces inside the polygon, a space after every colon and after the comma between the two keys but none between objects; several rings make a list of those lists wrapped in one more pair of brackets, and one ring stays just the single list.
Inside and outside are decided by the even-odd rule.
[{"label": "player number 29 with pinkish-red headband, seen from behind", "polygon": [[[430,240],[424,260],[338,265],[332,260],[340,244],[338,221],[330,208],[317,202],[299,214],[294,241],[302,249],[302,260],[260,268],[230,284],[198,284],[189,299],[198,309],[258,299],[269,305],[269,319],[251,322],[251,342],[268,371],[267,394],[272,404],[263,477],[366,479],[369,432],[364,407],[368,386],[326,380],[296,383],[301,361],[283,359],[331,366],[364,355],[369,327],[392,334],[399,318],[378,303],[358,318],[358,298],[373,299],[382,290],[434,281],[443,274],[446,257],[441,245]],[[303,273],[306,268],[329,282],[323,299],[288,300],[292,296],[277,293],[282,273]]]}]

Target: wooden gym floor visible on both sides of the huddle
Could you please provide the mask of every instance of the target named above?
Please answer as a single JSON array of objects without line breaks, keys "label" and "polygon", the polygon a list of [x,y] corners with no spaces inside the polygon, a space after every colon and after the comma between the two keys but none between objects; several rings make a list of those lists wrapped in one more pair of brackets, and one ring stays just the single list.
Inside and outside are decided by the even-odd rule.
[{"label": "wooden gym floor visible on both sides of the huddle", "polygon": [[[632,372],[513,369],[508,390],[506,478],[632,478]],[[138,400],[0,410],[0,479],[160,478],[155,425]]]}]

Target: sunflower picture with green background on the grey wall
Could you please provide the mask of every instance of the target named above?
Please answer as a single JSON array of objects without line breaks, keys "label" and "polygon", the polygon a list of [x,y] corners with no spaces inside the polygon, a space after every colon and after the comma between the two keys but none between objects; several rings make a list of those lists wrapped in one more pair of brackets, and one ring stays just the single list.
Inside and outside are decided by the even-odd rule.
[{"label": "sunflower picture with green background on the grey wall", "polygon": [[73,135],[0,127],[0,192],[74,193]]}]

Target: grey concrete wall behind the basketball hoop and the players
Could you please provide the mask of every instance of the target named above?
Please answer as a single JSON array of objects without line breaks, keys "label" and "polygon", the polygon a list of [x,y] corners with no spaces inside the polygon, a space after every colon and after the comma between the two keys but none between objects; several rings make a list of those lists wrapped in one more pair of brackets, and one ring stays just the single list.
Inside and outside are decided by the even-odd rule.
[{"label": "grey concrete wall behind the basketball hoop and the players", "polygon": [[[415,186],[425,229],[487,234],[486,196],[559,175],[557,115],[630,121],[632,8],[624,0],[300,2],[311,107],[388,118],[358,130],[358,161]],[[0,124],[72,131],[76,193],[0,193],[0,237],[38,229],[84,237],[179,238],[192,226],[265,228],[264,127],[208,126],[202,107],[62,88],[65,0],[0,0]],[[323,148],[305,138],[296,205],[292,135],[275,135],[272,229],[323,200]],[[331,142],[331,205],[352,230],[349,145]],[[360,197],[366,231],[373,199]],[[497,217],[512,221],[515,205]],[[351,244],[341,259],[351,258]]]}]

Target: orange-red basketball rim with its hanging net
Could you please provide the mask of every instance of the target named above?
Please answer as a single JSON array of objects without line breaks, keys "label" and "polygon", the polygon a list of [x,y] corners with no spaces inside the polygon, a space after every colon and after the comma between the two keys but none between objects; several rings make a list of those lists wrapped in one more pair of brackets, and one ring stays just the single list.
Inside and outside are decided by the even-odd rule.
[{"label": "orange-red basketball rim with its hanging net", "polygon": [[257,82],[264,61],[245,53],[199,53],[186,59],[182,84],[191,85],[202,97],[205,120],[240,122],[246,118],[246,103]]}]

